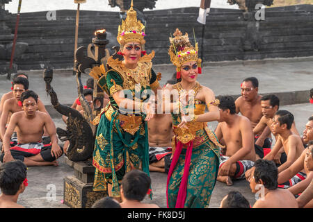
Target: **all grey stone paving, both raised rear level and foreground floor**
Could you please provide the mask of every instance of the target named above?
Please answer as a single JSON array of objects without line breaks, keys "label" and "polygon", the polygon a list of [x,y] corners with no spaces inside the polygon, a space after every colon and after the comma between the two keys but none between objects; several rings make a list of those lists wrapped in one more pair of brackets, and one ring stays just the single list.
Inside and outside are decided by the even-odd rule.
[{"label": "all grey stone paving, both raised rear level and foreground floor", "polygon": [[[286,92],[296,90],[308,90],[313,86],[313,62],[312,58],[305,58],[294,62],[292,60],[270,60],[268,62],[220,62],[210,63],[204,67],[199,81],[211,87],[216,95],[239,94],[241,80],[246,77],[256,76],[260,82],[260,92]],[[171,65],[159,65],[154,68],[162,72],[161,84],[172,76],[175,69]],[[45,105],[50,105],[49,97],[45,94],[45,83],[42,79],[42,71],[26,71],[30,76],[31,87],[38,92],[40,99]],[[61,103],[70,104],[77,97],[77,85],[72,76],[72,71],[54,71],[52,85],[59,96]],[[83,76],[83,83],[86,83],[88,76]],[[0,76],[0,96],[10,90],[10,80],[6,76]],[[313,114],[313,106],[310,103],[282,106],[280,110],[291,111],[296,120],[296,127],[302,134],[307,118]],[[65,123],[58,117],[54,117],[57,127],[65,128]],[[211,128],[216,128],[217,123],[211,123]],[[29,167],[29,187],[24,194],[19,196],[18,203],[25,207],[37,208],[67,208],[61,203],[63,200],[63,178],[72,176],[73,169],[65,164],[64,156],[59,159],[58,167]],[[165,173],[151,173],[152,189],[154,198],[145,198],[147,203],[156,203],[160,207],[166,207],[166,177]],[[56,198],[51,193],[56,191]],[[254,194],[246,180],[234,181],[232,187],[216,182],[211,196],[210,207],[218,207],[220,200],[232,190],[241,191],[250,204],[255,203]],[[48,197],[48,198],[47,198]]]}]

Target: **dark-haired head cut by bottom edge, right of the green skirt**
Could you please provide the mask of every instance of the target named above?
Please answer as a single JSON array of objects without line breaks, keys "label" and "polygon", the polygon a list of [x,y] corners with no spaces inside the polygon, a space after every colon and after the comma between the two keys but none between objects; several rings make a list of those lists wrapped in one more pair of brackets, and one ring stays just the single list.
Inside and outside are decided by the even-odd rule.
[{"label": "dark-haired head cut by bottom edge, right of the green skirt", "polygon": [[230,191],[220,202],[220,208],[250,208],[250,204],[239,191]]}]

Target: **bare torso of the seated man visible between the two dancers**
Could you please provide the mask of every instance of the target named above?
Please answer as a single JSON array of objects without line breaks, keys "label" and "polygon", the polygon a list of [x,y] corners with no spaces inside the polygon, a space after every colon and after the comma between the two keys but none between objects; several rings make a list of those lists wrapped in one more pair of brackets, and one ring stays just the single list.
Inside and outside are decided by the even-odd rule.
[{"label": "bare torso of the seated man visible between the two dancers", "polygon": [[172,117],[170,114],[155,114],[147,123],[149,146],[170,147],[172,139]]}]

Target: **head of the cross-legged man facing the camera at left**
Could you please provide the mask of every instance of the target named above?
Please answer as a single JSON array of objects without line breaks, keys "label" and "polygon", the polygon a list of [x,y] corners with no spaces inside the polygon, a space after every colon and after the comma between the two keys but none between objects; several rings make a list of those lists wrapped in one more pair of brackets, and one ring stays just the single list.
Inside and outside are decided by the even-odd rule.
[{"label": "head of the cross-legged man facing the camera at left", "polygon": [[38,110],[38,95],[32,90],[22,93],[21,102],[23,110],[28,116],[32,116]]}]

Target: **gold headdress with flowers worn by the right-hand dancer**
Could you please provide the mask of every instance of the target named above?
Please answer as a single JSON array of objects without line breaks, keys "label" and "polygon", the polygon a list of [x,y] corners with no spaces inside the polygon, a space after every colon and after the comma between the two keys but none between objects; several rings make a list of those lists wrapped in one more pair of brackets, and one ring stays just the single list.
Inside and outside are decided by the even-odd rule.
[{"label": "gold headdress with flowers worn by the right-hand dancer", "polygon": [[198,63],[198,71],[201,74],[201,62],[198,58],[198,42],[195,47],[189,41],[188,33],[182,35],[182,32],[176,28],[174,37],[170,37],[170,49],[168,49],[170,61],[176,66],[177,78],[180,78],[180,69],[185,62],[196,61]]}]

